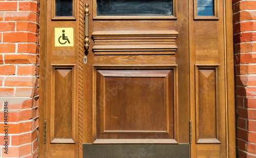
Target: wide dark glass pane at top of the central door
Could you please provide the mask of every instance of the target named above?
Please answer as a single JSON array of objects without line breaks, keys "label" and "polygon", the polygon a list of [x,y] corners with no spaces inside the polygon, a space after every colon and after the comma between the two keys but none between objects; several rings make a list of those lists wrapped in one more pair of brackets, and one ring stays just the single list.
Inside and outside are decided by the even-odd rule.
[{"label": "wide dark glass pane at top of the central door", "polygon": [[173,0],[97,0],[97,15],[168,16],[173,15]]}]

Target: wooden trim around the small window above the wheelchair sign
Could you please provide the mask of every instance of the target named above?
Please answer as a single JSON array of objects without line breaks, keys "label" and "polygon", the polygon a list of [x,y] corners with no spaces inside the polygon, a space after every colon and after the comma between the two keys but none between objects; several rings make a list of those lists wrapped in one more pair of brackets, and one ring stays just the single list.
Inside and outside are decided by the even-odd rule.
[{"label": "wooden trim around the small window above the wheelchair sign", "polygon": [[76,0],[73,0],[73,16],[56,16],[55,0],[51,0],[51,3],[52,20],[76,20]]}]

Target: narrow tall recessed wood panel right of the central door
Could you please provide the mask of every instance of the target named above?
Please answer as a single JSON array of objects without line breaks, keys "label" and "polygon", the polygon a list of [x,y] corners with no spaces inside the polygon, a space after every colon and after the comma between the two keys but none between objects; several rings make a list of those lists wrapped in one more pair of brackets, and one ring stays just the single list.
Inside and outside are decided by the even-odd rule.
[{"label": "narrow tall recessed wood panel right of the central door", "polygon": [[196,65],[197,143],[220,143],[218,65]]}]

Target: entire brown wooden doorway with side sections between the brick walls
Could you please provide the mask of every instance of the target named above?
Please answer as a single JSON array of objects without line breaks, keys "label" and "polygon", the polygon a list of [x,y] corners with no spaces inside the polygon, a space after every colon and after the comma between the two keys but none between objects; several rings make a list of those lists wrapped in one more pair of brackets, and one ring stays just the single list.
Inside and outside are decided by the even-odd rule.
[{"label": "entire brown wooden doorway with side sections between the brick walls", "polygon": [[225,3],[59,2],[41,3],[41,157],[232,155]]}]

